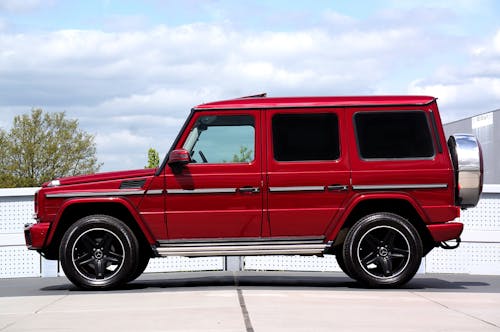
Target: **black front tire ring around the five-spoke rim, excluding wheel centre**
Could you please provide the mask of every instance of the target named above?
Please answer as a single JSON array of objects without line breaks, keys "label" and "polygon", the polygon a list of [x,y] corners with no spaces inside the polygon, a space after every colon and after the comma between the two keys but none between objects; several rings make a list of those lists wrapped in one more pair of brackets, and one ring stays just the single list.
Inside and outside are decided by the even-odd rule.
[{"label": "black front tire ring around the five-spoke rim, excluding wheel centre", "polygon": [[[116,273],[102,280],[82,275],[73,262],[73,248],[76,241],[86,232],[99,229],[112,233],[123,246],[121,266]],[[92,215],[78,220],[69,227],[61,241],[59,257],[66,277],[76,286],[85,289],[109,289],[126,282],[127,277],[135,271],[139,255],[138,247],[137,239],[125,223],[107,215]]]}]

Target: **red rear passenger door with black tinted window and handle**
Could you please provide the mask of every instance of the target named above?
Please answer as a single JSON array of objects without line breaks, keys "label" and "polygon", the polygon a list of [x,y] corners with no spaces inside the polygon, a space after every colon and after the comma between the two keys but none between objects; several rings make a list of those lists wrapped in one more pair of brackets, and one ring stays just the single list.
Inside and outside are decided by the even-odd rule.
[{"label": "red rear passenger door with black tinted window and handle", "polygon": [[339,212],[350,184],[342,120],[342,109],[266,112],[272,237],[321,237]]}]

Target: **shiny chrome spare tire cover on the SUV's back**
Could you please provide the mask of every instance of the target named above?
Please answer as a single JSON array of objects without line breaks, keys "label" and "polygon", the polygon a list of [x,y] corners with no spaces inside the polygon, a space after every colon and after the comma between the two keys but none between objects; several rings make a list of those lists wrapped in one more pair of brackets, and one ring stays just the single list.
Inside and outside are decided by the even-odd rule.
[{"label": "shiny chrome spare tire cover on the SUV's back", "polygon": [[477,205],[483,191],[483,154],[474,135],[454,134],[448,139],[455,169],[456,204],[462,209]]}]

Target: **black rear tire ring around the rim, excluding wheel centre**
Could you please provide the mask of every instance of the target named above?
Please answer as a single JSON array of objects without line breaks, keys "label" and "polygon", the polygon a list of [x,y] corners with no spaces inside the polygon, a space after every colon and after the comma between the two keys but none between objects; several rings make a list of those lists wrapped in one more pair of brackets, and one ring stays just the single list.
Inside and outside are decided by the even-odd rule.
[{"label": "black rear tire ring around the rim, excluding wheel centre", "polygon": [[[393,228],[408,244],[409,258],[404,268],[389,277],[370,274],[362,266],[359,246],[363,237],[379,227]],[[359,220],[347,234],[343,257],[349,275],[369,287],[397,287],[408,282],[417,273],[422,260],[422,241],[415,227],[406,219],[392,213],[375,213]]]}]

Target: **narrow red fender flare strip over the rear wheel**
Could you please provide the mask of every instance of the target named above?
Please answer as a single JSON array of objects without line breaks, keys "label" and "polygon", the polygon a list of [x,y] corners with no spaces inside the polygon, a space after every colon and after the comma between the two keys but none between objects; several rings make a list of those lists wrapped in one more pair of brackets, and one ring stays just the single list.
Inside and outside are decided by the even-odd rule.
[{"label": "narrow red fender flare strip over the rear wheel", "polygon": [[422,207],[417,203],[415,199],[411,196],[401,193],[401,192],[376,192],[376,193],[360,193],[353,196],[346,204],[346,207],[341,210],[342,212],[337,215],[337,218],[330,223],[326,231],[326,238],[328,241],[333,241],[337,234],[340,232],[342,227],[344,227],[345,222],[351,215],[352,211],[361,203],[374,200],[399,200],[406,201],[409,203],[413,209],[417,212],[420,218],[427,223],[429,217],[422,209]]}]

